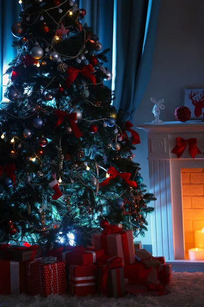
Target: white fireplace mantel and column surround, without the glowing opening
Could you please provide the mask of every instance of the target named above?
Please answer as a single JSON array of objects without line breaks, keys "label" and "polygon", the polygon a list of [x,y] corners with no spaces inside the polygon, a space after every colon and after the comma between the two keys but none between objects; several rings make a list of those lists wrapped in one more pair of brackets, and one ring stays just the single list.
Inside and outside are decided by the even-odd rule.
[{"label": "white fireplace mantel and column surround, without the glowing opening", "polygon": [[[151,213],[152,253],[166,260],[184,259],[184,229],[181,168],[204,167],[204,122],[145,123],[137,126],[147,133],[150,192],[155,211]],[[197,139],[202,153],[193,160],[187,147],[180,159],[171,153],[176,137]]]}]

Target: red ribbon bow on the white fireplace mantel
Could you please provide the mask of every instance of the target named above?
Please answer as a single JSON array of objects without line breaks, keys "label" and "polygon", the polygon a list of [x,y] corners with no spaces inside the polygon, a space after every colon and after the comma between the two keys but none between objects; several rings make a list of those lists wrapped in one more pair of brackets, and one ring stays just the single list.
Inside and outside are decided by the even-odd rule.
[{"label": "red ribbon bow on the white fireplace mantel", "polygon": [[189,144],[189,153],[193,159],[198,153],[201,153],[199,148],[196,146],[197,139],[191,138],[191,139],[185,140],[183,138],[176,138],[176,144],[177,145],[173,148],[171,152],[175,153],[178,159],[183,155],[187,144]]}]

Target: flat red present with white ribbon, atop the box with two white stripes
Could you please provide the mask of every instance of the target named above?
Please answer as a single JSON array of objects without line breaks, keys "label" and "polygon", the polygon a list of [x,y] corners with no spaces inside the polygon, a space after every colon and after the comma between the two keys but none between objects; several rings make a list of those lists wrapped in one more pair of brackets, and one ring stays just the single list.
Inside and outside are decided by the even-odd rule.
[{"label": "flat red present with white ribbon, atop the box with two white stripes", "polygon": [[85,249],[83,246],[73,247],[71,250],[62,253],[62,260],[66,265],[87,266],[95,264],[97,259],[105,254],[103,249]]}]

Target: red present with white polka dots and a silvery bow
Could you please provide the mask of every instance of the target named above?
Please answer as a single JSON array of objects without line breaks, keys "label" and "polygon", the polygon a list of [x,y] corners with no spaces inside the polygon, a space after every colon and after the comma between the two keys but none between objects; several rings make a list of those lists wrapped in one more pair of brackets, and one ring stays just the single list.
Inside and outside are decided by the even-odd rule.
[{"label": "red present with white polka dots and a silvery bow", "polygon": [[67,291],[65,263],[55,257],[27,263],[28,294],[48,296]]}]

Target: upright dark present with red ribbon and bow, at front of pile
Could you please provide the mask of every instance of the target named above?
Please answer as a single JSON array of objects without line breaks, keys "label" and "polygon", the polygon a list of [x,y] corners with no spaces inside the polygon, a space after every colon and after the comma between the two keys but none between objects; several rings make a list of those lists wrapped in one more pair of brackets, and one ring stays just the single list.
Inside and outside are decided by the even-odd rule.
[{"label": "upright dark present with red ribbon and bow, at front of pile", "polygon": [[104,256],[98,260],[99,291],[108,297],[122,297],[124,289],[124,271],[122,258]]}]

